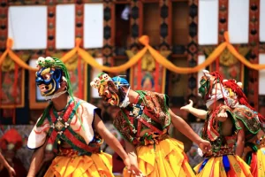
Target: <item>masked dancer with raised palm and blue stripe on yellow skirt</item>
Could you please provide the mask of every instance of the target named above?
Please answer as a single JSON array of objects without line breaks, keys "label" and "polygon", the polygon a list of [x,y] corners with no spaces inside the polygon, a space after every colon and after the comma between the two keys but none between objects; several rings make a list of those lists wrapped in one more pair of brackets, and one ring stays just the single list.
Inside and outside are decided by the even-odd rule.
[{"label": "masked dancer with raised palm and blue stripe on yellow skirt", "polygon": [[244,124],[231,108],[229,91],[218,72],[203,71],[199,93],[208,111],[193,108],[193,101],[181,110],[205,119],[201,137],[212,144],[211,152],[203,153],[203,160],[194,170],[198,177],[208,176],[253,176],[250,167],[241,157],[245,143]]}]

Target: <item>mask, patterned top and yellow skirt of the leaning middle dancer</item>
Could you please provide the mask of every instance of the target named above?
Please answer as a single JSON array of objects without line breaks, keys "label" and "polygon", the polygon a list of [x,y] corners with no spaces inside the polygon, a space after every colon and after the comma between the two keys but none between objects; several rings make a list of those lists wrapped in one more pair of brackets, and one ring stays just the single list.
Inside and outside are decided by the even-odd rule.
[{"label": "mask, patterned top and yellow skirt of the leaning middle dancer", "polygon": [[[103,93],[105,85],[109,86],[110,93],[109,91]],[[119,86],[129,87],[129,83],[120,77],[111,79],[106,73],[99,74],[91,86],[99,90],[100,96],[105,94],[112,98],[108,100],[110,104],[121,108],[113,124],[125,140],[136,147],[138,165],[142,173],[150,177],[194,176],[188,164],[183,143],[168,135],[170,113],[167,96],[137,90],[139,94],[137,101],[129,103],[127,99],[129,91],[123,99],[117,96],[117,93],[120,93]],[[145,129],[150,131],[140,136]],[[125,169],[124,176],[133,175]]]}]

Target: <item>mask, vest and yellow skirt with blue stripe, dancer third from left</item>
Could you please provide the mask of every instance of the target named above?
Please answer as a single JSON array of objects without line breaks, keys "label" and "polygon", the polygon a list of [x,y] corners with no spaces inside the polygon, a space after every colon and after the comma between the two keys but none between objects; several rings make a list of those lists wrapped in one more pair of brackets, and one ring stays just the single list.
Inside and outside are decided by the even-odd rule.
[{"label": "mask, vest and yellow skirt with blue stripe, dancer third from left", "polygon": [[[208,107],[213,105],[214,107],[208,111],[202,132],[202,138],[211,142],[212,151],[204,154],[206,159],[194,168],[197,176],[252,176],[249,166],[235,155],[237,132],[241,128],[239,122],[234,118],[229,106],[224,104],[215,106],[217,100],[225,99],[228,94],[223,88],[220,77],[218,74],[213,76],[208,71],[204,71],[200,83],[201,96]],[[223,135],[223,122],[216,120],[218,113],[223,110],[231,118],[233,125],[231,135]]]}]

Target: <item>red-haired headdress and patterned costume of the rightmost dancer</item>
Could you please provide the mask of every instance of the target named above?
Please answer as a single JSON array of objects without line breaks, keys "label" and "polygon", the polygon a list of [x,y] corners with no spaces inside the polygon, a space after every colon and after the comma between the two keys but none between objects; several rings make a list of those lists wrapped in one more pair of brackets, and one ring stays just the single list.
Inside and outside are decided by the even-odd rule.
[{"label": "red-haired headdress and patterned costume of the rightmost dancer", "polygon": [[243,159],[251,166],[254,177],[262,176],[265,174],[265,136],[261,128],[264,118],[247,103],[241,84],[229,80],[223,81],[223,85],[230,93],[228,105],[231,107],[235,118],[245,125],[246,148]]}]

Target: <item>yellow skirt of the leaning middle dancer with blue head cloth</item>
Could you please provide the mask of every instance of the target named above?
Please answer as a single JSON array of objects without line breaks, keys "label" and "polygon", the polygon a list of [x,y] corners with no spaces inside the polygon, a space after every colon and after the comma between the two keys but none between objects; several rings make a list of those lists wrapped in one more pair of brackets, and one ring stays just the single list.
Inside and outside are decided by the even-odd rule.
[{"label": "yellow skirt of the leaning middle dancer with blue head cloth", "polygon": [[[184,145],[173,138],[158,144],[136,148],[140,171],[149,177],[193,177],[193,169],[188,164]],[[124,177],[133,174],[124,170]]]}]

